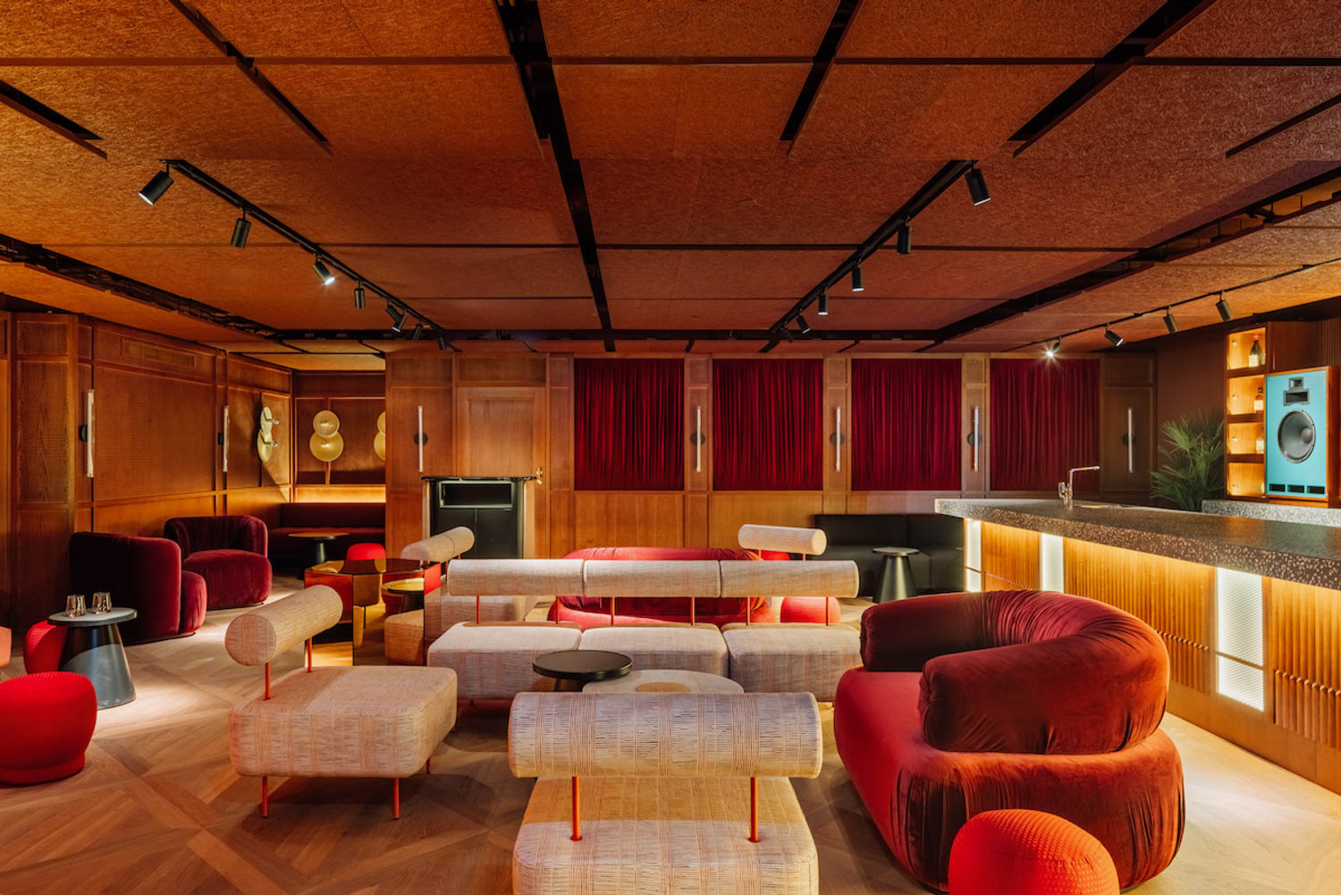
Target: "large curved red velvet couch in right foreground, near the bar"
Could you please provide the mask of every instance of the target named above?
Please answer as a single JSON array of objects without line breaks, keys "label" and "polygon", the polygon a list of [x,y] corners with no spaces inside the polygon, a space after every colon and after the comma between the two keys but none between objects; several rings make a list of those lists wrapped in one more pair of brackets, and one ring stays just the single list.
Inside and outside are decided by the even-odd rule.
[{"label": "large curved red velvet couch in right foreground, near the bar", "polygon": [[998,590],[872,607],[834,737],[885,843],[944,890],[982,812],[1025,808],[1098,839],[1122,887],[1183,839],[1183,765],[1160,730],[1168,653],[1144,623],[1059,593]]}]

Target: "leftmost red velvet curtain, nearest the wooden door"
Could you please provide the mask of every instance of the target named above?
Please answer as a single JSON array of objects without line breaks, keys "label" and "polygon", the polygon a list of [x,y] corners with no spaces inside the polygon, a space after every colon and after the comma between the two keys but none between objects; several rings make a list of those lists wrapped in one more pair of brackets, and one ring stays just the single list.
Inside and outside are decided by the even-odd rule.
[{"label": "leftmost red velvet curtain, nearest the wooden door", "polygon": [[582,491],[684,487],[684,364],[573,361],[574,475]]}]

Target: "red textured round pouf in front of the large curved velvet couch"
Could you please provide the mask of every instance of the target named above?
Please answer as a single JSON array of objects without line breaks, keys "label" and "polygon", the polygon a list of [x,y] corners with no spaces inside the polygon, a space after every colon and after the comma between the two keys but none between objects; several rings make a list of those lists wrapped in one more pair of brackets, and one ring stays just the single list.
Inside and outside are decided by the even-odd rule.
[{"label": "red textured round pouf in front of the large curved velvet couch", "polygon": [[1117,868],[1084,829],[1041,810],[988,810],[949,849],[949,895],[1118,895]]}]

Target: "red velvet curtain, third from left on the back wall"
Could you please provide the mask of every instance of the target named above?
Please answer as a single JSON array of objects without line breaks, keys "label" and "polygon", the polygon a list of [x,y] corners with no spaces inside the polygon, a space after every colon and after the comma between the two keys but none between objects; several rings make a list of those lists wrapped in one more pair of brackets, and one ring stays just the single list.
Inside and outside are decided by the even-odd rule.
[{"label": "red velvet curtain, third from left on the back wall", "polygon": [[957,358],[852,362],[854,491],[957,491]]}]

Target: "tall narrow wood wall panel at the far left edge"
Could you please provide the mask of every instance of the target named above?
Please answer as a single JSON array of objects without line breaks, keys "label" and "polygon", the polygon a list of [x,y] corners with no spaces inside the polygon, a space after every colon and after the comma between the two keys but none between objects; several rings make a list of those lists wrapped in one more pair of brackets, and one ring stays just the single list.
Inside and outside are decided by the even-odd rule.
[{"label": "tall narrow wood wall panel at the far left edge", "polygon": [[[25,322],[19,323],[20,344]],[[62,326],[62,331],[64,327]],[[43,338],[38,330],[30,338]],[[46,346],[46,345],[43,345]],[[70,365],[64,361],[19,361],[15,368],[15,439],[19,503],[64,503],[72,499],[70,437]]]}]

